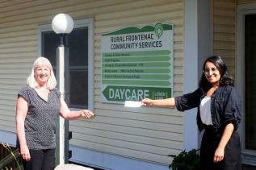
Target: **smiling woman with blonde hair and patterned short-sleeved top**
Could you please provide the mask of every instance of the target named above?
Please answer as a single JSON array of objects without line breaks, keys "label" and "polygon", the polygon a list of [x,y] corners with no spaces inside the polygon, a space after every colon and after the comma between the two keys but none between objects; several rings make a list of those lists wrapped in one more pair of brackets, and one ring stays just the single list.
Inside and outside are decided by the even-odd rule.
[{"label": "smiling woman with blonde hair and patterned short-sleeved top", "polygon": [[55,129],[59,114],[66,119],[94,116],[90,110],[69,110],[56,85],[50,61],[37,58],[27,77],[27,86],[18,93],[16,105],[18,147],[25,170],[54,168]]}]

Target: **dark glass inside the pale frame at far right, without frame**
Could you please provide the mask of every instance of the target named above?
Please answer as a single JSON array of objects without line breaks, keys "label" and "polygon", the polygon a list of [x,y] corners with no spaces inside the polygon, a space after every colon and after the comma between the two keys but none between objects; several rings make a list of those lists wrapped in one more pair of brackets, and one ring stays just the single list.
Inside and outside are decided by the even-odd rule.
[{"label": "dark glass inside the pale frame at far right, without frame", "polygon": [[256,150],[256,14],[245,15],[246,149]]}]

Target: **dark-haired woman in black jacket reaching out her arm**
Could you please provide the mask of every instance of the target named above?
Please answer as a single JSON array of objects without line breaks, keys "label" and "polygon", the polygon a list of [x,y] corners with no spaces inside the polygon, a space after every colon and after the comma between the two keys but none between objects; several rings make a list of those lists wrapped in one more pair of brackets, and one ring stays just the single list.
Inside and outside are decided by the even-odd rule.
[{"label": "dark-haired woman in black jacket reaching out her arm", "polygon": [[233,87],[228,68],[220,56],[204,62],[199,88],[192,93],[162,100],[145,98],[144,106],[176,106],[184,111],[198,107],[197,125],[204,130],[200,147],[202,170],[241,169],[241,97]]}]

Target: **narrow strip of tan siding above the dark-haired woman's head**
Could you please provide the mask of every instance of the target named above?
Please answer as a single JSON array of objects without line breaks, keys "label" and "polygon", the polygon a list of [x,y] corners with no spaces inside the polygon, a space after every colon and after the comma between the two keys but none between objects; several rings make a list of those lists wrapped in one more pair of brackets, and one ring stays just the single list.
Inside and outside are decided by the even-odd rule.
[{"label": "narrow strip of tan siding above the dark-haired woman's head", "polygon": [[213,0],[213,53],[221,56],[234,77],[236,56],[236,1]]}]

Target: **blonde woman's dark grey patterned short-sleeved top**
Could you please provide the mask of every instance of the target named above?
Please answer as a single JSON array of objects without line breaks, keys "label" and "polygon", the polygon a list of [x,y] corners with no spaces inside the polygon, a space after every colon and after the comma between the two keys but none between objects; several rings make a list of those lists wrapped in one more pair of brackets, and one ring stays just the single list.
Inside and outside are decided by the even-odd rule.
[{"label": "blonde woman's dark grey patterned short-sleeved top", "polygon": [[55,127],[61,109],[61,93],[52,89],[48,101],[44,101],[35,89],[25,87],[18,93],[28,104],[25,118],[25,136],[29,149],[52,149],[56,147]]}]

